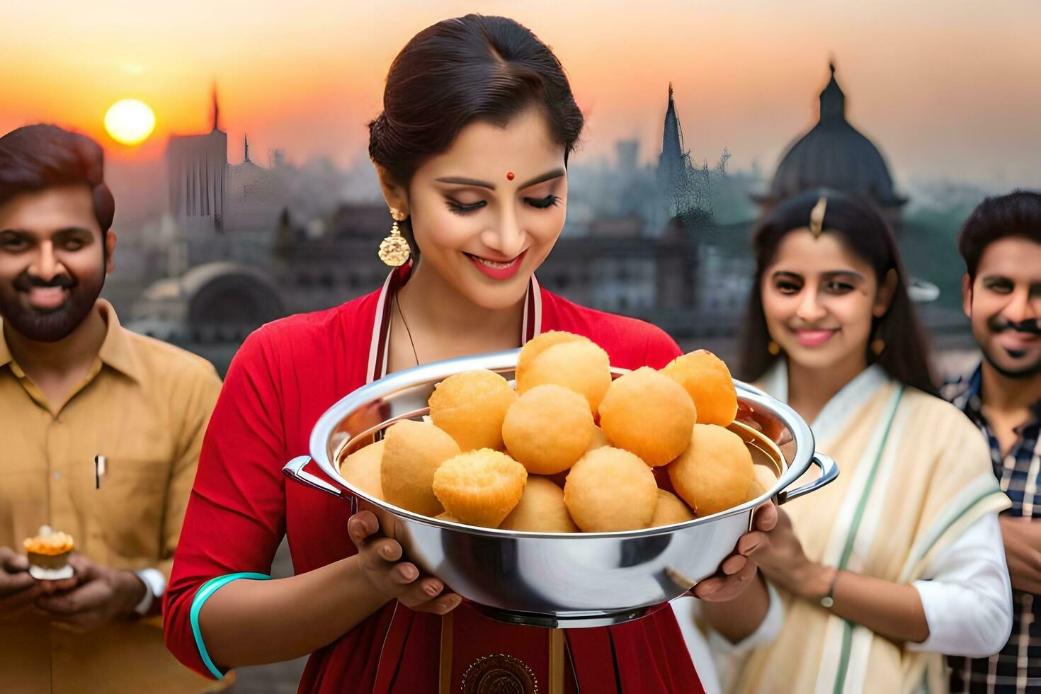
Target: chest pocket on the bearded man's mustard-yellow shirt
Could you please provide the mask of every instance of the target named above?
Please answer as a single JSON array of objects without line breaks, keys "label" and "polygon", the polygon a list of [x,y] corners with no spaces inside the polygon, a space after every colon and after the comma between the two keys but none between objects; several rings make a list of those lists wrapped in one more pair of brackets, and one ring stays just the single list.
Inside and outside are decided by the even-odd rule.
[{"label": "chest pocket on the bearded man's mustard-yellow shirt", "polygon": [[109,564],[141,568],[160,559],[169,465],[113,456],[105,459],[100,484],[96,485],[93,469],[79,477],[76,506],[92,544],[100,541],[104,545]]}]

